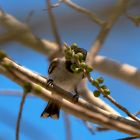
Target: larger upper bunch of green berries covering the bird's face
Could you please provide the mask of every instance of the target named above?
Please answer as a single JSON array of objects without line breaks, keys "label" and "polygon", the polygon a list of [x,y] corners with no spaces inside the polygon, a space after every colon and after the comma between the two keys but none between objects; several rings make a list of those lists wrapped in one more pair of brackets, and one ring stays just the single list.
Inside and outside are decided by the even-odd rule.
[{"label": "larger upper bunch of green berries covering the bird's face", "polygon": [[74,73],[81,73],[84,70],[90,73],[93,69],[85,63],[84,56],[81,52],[75,53],[76,48],[78,48],[78,45],[74,43],[65,50],[66,60],[74,62],[71,65],[71,70]]}]

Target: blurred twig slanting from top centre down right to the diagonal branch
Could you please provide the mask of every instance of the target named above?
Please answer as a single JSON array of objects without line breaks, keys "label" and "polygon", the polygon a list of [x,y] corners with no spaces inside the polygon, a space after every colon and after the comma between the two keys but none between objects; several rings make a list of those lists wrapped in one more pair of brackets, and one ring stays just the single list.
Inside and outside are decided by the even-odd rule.
[{"label": "blurred twig slanting from top centre down right to the diagonal branch", "polygon": [[83,7],[80,7],[79,5],[73,3],[71,0],[62,0],[62,1],[64,3],[66,3],[69,7],[71,7],[72,9],[88,16],[97,25],[99,25],[99,26],[103,25],[104,21],[102,21],[100,18],[98,18],[97,15],[95,15],[93,12],[91,12]]}]

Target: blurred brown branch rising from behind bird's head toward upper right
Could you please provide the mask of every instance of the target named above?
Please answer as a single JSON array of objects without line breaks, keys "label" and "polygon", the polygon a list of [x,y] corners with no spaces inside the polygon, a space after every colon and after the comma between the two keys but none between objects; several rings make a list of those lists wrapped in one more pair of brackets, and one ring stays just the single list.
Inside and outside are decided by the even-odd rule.
[{"label": "blurred brown branch rising from behind bird's head toward upper right", "polygon": [[96,38],[96,41],[93,43],[90,53],[88,55],[88,64],[92,66],[95,56],[100,51],[105,39],[107,38],[107,35],[109,34],[112,26],[117,21],[117,19],[122,15],[127,7],[129,0],[119,0],[118,5],[114,8],[114,11],[110,14],[108,20],[106,23],[102,26],[99,35]]}]

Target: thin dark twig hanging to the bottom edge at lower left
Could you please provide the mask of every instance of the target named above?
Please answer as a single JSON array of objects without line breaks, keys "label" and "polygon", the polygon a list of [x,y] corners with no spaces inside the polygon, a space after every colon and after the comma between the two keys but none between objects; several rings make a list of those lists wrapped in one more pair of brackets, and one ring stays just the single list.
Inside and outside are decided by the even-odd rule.
[{"label": "thin dark twig hanging to the bottom edge at lower left", "polygon": [[23,106],[25,104],[25,99],[26,99],[27,93],[23,93],[21,102],[20,102],[20,108],[19,108],[19,113],[18,113],[18,119],[17,119],[17,125],[16,125],[16,140],[19,140],[19,130],[20,130],[20,123],[21,123],[21,117],[22,117],[22,112],[23,112]]}]

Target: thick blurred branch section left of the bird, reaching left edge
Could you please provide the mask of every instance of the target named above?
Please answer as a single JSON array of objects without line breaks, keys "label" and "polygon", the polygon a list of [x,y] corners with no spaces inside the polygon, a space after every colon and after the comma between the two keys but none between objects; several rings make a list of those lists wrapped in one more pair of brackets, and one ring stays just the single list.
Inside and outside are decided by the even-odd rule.
[{"label": "thick blurred branch section left of the bird, reaching left edge", "polygon": [[[48,40],[36,37],[25,23],[21,23],[13,16],[3,14],[0,11],[0,25],[10,32],[7,38],[13,38],[27,47],[35,49],[36,51],[51,57],[58,51],[58,46]],[[6,37],[6,36],[5,36]],[[4,37],[3,37],[4,39]],[[1,39],[0,39],[1,41]]]}]

